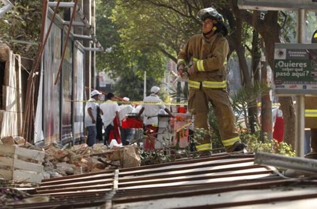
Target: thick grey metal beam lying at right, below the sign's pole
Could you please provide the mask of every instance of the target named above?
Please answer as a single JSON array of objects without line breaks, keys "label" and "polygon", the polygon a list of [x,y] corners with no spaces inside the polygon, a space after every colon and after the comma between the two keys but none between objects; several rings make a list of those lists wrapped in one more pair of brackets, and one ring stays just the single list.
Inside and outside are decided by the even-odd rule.
[{"label": "thick grey metal beam lying at right, below the sign's pole", "polygon": [[259,152],[256,153],[254,162],[260,165],[271,165],[281,168],[317,173],[317,160],[303,157],[286,157]]}]

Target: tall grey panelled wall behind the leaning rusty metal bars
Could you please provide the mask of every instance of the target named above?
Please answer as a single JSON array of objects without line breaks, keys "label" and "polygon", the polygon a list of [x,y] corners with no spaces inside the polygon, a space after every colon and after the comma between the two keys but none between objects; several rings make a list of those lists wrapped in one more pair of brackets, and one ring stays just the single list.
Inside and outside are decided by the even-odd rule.
[{"label": "tall grey panelled wall behind the leaning rusty metal bars", "polygon": [[[52,18],[52,9],[48,12],[47,27]],[[43,58],[43,93],[39,93],[38,107],[42,106],[43,137],[35,143],[50,144],[60,142],[75,143],[84,139],[84,104],[72,103],[71,100],[84,100],[84,55],[83,46],[70,35],[64,56],[62,71],[57,84],[54,80],[60,63],[61,51],[65,43],[67,27],[56,15]],[[41,87],[40,87],[41,88]],[[41,97],[41,98],[40,98]]]}]

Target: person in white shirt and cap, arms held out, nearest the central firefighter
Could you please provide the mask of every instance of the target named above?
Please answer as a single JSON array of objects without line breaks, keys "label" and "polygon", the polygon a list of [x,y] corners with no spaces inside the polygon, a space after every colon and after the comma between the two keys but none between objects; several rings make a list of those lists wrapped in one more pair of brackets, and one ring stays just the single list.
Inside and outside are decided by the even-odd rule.
[{"label": "person in white shirt and cap, arms held out, nearest the central firefighter", "polygon": [[145,143],[145,149],[154,150],[155,147],[155,133],[158,133],[158,125],[159,125],[159,110],[163,109],[169,114],[171,117],[174,117],[172,113],[169,111],[168,108],[164,104],[147,104],[147,103],[162,103],[161,99],[159,99],[159,87],[153,86],[151,88],[151,95],[144,98],[143,100],[144,104],[142,105],[142,108],[140,112],[137,114],[137,117],[140,117],[140,115],[144,112],[144,119],[143,123],[145,125],[145,131],[148,131],[151,133],[151,138],[146,139]]}]

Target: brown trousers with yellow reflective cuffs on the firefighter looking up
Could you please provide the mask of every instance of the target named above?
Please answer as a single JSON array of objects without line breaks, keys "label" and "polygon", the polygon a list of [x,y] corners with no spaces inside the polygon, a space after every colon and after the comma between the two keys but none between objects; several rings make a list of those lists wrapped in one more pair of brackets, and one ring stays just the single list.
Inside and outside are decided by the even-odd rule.
[{"label": "brown trousers with yellow reflective cuffs on the firefighter looking up", "polygon": [[[200,87],[200,89],[191,88],[189,90],[188,106],[195,117],[194,127],[195,129],[204,128],[209,133],[209,102],[211,102],[214,109],[222,143],[227,152],[233,152],[236,146],[241,142],[236,129],[236,120],[232,111],[229,95],[225,88]],[[198,152],[211,150],[210,134],[198,140],[196,149]]]}]

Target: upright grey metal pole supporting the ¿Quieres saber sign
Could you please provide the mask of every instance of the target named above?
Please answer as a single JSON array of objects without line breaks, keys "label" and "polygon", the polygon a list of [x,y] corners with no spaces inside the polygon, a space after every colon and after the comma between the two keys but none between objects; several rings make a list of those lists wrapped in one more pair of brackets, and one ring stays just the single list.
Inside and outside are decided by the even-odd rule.
[{"label": "upright grey metal pole supporting the \u00bfQuieres saber sign", "polygon": [[[305,39],[305,9],[299,9],[297,14],[297,40],[304,44]],[[287,130],[286,130],[287,131]],[[304,157],[305,139],[305,96],[296,96],[295,115],[295,150],[297,157]]]}]

